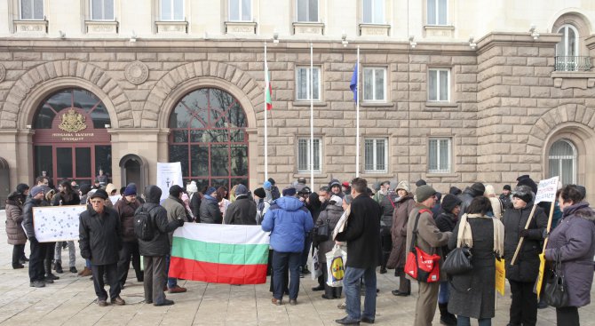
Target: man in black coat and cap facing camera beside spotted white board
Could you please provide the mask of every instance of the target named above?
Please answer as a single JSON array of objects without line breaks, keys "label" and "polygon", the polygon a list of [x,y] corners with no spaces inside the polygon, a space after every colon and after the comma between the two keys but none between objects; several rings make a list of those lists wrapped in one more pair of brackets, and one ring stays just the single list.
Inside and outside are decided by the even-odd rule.
[{"label": "man in black coat and cap facing camera beside spotted white board", "polygon": [[97,304],[107,306],[107,292],[104,290],[102,275],[107,274],[109,298],[112,304],[123,306],[120,298],[120,280],[118,278],[118,252],[122,249],[122,228],[118,213],[106,207],[108,199],[105,190],[99,189],[90,197],[91,207],[80,216],[79,246],[81,256],[91,259],[93,286],[97,295]]}]

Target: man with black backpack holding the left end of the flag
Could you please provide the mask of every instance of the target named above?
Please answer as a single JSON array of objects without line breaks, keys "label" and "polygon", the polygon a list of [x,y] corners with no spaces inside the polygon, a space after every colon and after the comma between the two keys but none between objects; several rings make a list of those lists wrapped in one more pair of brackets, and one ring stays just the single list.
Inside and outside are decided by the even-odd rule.
[{"label": "man with black backpack holding the left end of the flag", "polygon": [[[184,219],[168,221],[167,211],[159,205],[161,188],[147,186],[145,200],[139,210],[147,211],[153,224],[155,235],[153,239],[144,241],[139,239],[139,250],[143,256],[145,266],[145,303],[154,306],[171,306],[173,301],[165,298],[163,286],[167,280],[167,266],[165,256],[170,254],[170,239],[168,233],[184,225]],[[139,211],[137,210],[137,212]]]}]

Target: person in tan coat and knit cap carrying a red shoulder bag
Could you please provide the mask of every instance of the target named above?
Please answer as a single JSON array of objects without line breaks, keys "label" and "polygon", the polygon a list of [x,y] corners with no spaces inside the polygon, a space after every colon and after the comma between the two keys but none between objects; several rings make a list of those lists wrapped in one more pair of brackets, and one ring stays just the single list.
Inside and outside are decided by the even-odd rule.
[{"label": "person in tan coat and knit cap carrying a red shoulder bag", "polygon": [[[424,250],[429,255],[436,254],[440,256],[440,265],[444,255],[440,247],[447,245],[448,239],[452,236],[451,232],[441,232],[436,226],[430,209],[436,203],[436,190],[424,185],[417,187],[416,198],[417,207],[411,211],[411,218],[407,224],[407,239],[413,239],[413,233],[417,233],[417,248]],[[417,229],[414,230],[414,226]],[[409,252],[411,243],[407,243],[405,252]],[[446,280],[446,274],[440,269],[439,280]],[[409,276],[408,276],[409,277]],[[415,312],[415,325],[431,325],[436,312],[436,303],[438,300],[438,291],[440,282],[418,282],[419,295]]]}]

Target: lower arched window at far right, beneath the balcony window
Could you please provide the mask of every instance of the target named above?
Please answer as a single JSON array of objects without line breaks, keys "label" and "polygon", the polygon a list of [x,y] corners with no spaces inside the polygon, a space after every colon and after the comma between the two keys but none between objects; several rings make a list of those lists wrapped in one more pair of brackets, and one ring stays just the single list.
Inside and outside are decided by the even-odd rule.
[{"label": "lower arched window at far right, beneath the balcony window", "polygon": [[567,139],[559,139],[550,148],[550,178],[559,176],[563,185],[576,183],[576,147]]}]

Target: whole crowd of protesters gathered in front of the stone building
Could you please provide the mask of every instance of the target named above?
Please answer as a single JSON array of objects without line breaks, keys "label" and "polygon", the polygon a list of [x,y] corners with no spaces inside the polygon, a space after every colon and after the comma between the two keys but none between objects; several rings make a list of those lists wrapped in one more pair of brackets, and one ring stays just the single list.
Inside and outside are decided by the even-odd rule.
[{"label": "whole crowd of protesters gathered in front of the stone building", "polygon": [[[504,186],[501,195],[480,182],[464,190],[451,187],[441,195],[424,180],[418,180],[414,189],[407,180],[391,187],[389,181],[369,186],[361,178],[343,183],[331,179],[316,191],[303,178],[282,191],[274,179],[254,191],[242,184],[231,190],[205,187],[199,191],[192,181],[186,187],[172,186],[164,201],[159,187],[149,186],[139,195],[136,185],[129,184],[113,202],[117,188],[105,178],[80,187],[63,180],[57,191],[48,181],[42,176],[35,187],[20,184],[8,196],[6,232],[13,245],[12,267],[28,263],[30,285],[43,288],[59,279],[53,271],[64,273],[61,250],[68,249],[69,271],[77,273],[75,243],[39,243],[32,210],[86,204],[79,235],[86,261],[78,274],[92,277],[99,306],[125,304],[120,292],[131,263],[137,281],[144,283],[145,301],[172,305],[165,292],[186,291],[176,278],[168,278],[171,237],[184,223],[261,225],[270,232],[270,289],[276,306],[284,303],[284,295],[290,305],[298,304],[300,278],[314,272],[308,269],[308,261],[316,249],[322,273],[312,290],[323,291],[324,299],[345,298],[338,305],[346,312],[337,319],[340,324],[375,321],[378,266],[379,274],[394,269],[399,278],[394,296],[409,297],[411,282],[417,282],[416,326],[431,325],[436,306],[442,324],[469,325],[472,318],[481,326],[490,325],[495,316],[496,259],[500,258],[506,262],[512,294],[508,325],[536,325],[537,309],[547,306],[538,300],[535,289],[542,251],[548,261],[559,259],[567,275],[569,299],[567,306],[556,308],[558,320],[578,325],[578,307],[591,300],[595,211],[585,201],[586,189],[581,186],[559,185],[556,201],[535,203],[537,185],[528,175],[517,179],[514,191]],[[135,234],[134,219],[139,214],[151,221],[148,238]],[[546,238],[549,242],[543,248]],[[29,258],[24,250],[27,242]],[[326,254],[337,246],[347,253],[342,287],[327,282]],[[465,247],[472,254],[472,269],[454,275],[440,270],[440,282],[419,282],[405,270],[412,246],[440,257],[439,266],[451,252]],[[109,293],[104,290],[106,283]],[[365,296],[363,310],[361,295]]]}]

